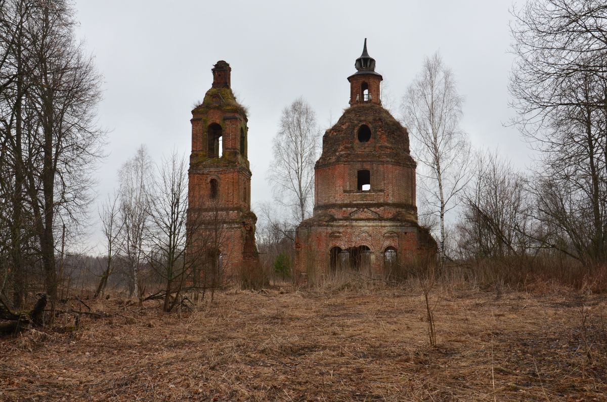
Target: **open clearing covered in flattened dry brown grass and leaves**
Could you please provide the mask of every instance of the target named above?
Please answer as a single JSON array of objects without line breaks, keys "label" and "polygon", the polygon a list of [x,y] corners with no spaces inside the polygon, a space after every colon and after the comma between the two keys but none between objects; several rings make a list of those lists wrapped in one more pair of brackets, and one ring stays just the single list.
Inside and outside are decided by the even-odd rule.
[{"label": "open clearing covered in flattened dry brown grass and leaves", "polygon": [[90,301],[115,315],[0,339],[0,400],[607,400],[604,295],[443,291],[430,347],[419,293],[363,293]]}]

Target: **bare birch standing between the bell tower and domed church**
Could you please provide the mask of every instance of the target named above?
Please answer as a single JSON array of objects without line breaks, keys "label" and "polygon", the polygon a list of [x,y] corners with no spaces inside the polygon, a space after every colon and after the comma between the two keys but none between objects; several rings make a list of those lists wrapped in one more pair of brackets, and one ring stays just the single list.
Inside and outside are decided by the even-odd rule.
[{"label": "bare birch standing between the bell tower and domed church", "polygon": [[285,107],[274,137],[268,180],[280,205],[292,208],[296,222],[310,216],[314,197],[314,163],[320,131],[310,105],[299,98]]}]

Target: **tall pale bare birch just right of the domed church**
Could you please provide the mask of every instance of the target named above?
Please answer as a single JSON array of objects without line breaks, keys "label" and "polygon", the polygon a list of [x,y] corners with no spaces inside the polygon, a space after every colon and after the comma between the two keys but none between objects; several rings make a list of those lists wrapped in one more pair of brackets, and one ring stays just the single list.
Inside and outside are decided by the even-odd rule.
[{"label": "tall pale bare birch just right of the domed church", "polygon": [[459,129],[461,104],[453,73],[438,53],[427,57],[421,72],[402,98],[405,126],[413,136],[413,152],[422,163],[418,168],[422,203],[427,213],[439,217],[439,253],[445,259],[445,215],[458,203],[469,181],[470,144]]}]

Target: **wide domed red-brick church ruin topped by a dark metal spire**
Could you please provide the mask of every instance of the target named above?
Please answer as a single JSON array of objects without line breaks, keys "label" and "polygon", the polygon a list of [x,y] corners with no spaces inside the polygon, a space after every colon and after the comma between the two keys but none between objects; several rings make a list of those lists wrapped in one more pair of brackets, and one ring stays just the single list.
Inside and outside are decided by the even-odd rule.
[{"label": "wide domed red-brick church ruin topped by a dark metal spire", "polygon": [[296,233],[296,274],[337,270],[378,276],[396,262],[435,253],[418,225],[415,160],[407,130],[381,106],[382,76],[367,43],[350,81],[350,107],[322,138],[314,214]]}]

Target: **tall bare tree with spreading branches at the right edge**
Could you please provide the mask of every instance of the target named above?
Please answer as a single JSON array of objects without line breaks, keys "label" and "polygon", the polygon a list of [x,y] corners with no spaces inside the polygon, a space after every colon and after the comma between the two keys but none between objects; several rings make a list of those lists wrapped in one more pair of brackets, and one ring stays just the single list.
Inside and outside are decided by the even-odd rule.
[{"label": "tall bare tree with spreading branches at the right edge", "polygon": [[607,255],[607,5],[531,0],[513,12],[515,123],[541,151],[543,242],[583,262]]}]

